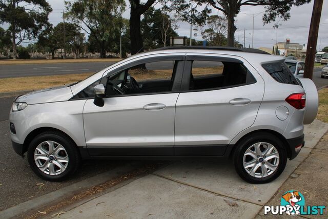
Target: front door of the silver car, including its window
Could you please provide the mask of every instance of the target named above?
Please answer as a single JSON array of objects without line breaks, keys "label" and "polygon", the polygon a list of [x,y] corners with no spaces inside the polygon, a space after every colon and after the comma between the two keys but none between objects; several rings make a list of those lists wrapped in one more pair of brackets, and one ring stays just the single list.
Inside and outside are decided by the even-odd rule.
[{"label": "front door of the silver car, including its window", "polygon": [[124,93],[113,93],[107,84],[103,107],[87,100],[83,118],[91,156],[174,154],[175,104],[184,63],[180,59],[150,60],[108,77],[114,84],[118,78]]}]

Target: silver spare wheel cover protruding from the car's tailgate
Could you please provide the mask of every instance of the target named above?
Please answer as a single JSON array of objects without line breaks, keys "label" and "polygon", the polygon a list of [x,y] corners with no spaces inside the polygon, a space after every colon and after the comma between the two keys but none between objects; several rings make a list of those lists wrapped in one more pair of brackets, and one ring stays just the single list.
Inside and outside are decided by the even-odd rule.
[{"label": "silver spare wheel cover protruding from the car's tailgate", "polygon": [[318,113],[319,97],[316,86],[309,78],[298,78],[303,85],[306,94],[305,114],[303,123],[311,124]]}]

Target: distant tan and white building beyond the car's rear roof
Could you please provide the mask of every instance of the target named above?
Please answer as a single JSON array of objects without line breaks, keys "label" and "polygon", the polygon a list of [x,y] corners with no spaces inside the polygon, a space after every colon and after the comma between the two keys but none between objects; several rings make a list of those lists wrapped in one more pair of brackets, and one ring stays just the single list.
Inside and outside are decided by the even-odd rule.
[{"label": "distant tan and white building beyond the car's rear roof", "polygon": [[[279,42],[275,45],[278,47],[278,52],[280,55],[294,55],[296,57],[302,57],[306,55],[306,46],[298,43],[285,43]],[[286,53],[286,54],[285,54]]]}]

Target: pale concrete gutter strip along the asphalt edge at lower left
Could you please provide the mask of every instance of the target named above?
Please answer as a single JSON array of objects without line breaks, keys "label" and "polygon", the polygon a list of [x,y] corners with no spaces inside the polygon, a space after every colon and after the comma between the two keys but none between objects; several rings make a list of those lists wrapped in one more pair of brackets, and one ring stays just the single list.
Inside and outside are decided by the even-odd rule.
[{"label": "pale concrete gutter strip along the asphalt edge at lower left", "polygon": [[13,218],[18,217],[26,212],[30,212],[32,210],[41,209],[48,204],[55,202],[56,200],[60,200],[68,195],[73,195],[75,192],[80,190],[85,190],[91,188],[93,186],[105,183],[106,181],[110,180],[111,178],[117,177],[122,173],[127,173],[135,168],[130,165],[125,165],[122,167],[115,168],[108,172],[104,172],[98,174],[96,176],[87,178],[83,181],[78,183],[72,184],[70,186],[58,189],[57,191],[39,196],[34,198],[33,200],[18,204],[6,210],[0,212],[0,218]]}]

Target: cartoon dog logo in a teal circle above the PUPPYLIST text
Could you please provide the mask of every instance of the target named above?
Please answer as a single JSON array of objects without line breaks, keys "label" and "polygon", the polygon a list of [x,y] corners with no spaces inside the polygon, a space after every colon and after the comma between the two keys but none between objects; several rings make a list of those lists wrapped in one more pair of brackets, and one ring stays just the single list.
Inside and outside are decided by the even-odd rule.
[{"label": "cartoon dog logo in a teal circle above the PUPPYLIST text", "polygon": [[298,191],[288,191],[281,196],[281,206],[286,206],[286,214],[299,215],[300,207],[305,205],[303,195]]}]

